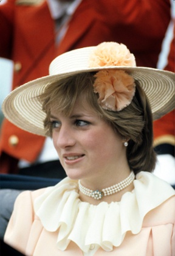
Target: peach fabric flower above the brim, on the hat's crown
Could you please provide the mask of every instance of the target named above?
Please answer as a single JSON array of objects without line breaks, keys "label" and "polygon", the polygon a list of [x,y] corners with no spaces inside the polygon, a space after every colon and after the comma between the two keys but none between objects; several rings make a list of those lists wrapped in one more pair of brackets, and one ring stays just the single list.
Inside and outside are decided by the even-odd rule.
[{"label": "peach fabric flower above the brim, on the hat's crown", "polygon": [[125,44],[104,42],[89,57],[90,68],[100,66],[136,66],[136,60]]}]

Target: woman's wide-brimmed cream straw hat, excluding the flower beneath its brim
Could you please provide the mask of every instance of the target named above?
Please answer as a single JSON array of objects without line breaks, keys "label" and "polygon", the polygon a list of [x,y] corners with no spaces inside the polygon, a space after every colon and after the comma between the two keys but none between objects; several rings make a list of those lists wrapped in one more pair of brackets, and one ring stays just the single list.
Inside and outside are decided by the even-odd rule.
[{"label": "woman's wide-brimmed cream straw hat, excluding the flower beneath its brim", "polygon": [[[110,48],[111,45],[112,48]],[[5,98],[2,104],[2,111],[5,117],[23,130],[45,136],[43,121],[46,118],[46,114],[43,112],[41,102],[39,102],[37,96],[44,92],[46,86],[58,82],[64,77],[107,69],[124,70],[139,81],[140,86],[149,99],[153,119],[159,119],[161,116],[173,110],[174,73],[160,69],[135,66],[134,55],[130,54],[130,52],[129,58],[131,60],[129,62],[127,62],[127,52],[125,57],[123,57],[125,59],[124,62],[115,61],[118,59],[118,55],[120,55],[119,59],[122,59],[121,51],[118,52],[118,46],[121,45],[126,48],[123,44],[112,42],[102,43],[100,51],[96,52],[95,61],[93,60],[93,56],[98,46],[75,49],[59,55],[50,63],[49,76],[28,82],[16,88],[16,90],[12,91]],[[101,61],[101,57],[99,57],[106,54],[106,49],[111,51],[112,56],[112,59],[108,60],[108,63],[105,63],[103,60]],[[108,57],[107,54],[106,59]]]}]

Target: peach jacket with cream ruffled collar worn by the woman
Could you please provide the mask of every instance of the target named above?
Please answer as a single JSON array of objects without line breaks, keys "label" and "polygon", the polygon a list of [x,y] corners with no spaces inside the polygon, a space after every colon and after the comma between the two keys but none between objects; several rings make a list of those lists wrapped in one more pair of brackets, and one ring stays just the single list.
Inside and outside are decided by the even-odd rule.
[{"label": "peach jacket with cream ruffled collar worn by the woman", "polygon": [[19,194],[5,242],[25,255],[174,256],[175,193],[139,172],[120,202],[91,205],[77,180]]}]

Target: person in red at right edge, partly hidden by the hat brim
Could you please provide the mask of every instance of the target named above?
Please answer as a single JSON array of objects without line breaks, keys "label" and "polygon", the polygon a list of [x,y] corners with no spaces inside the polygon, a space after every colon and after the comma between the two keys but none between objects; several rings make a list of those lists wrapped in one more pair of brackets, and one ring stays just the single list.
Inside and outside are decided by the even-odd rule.
[{"label": "person in red at right edge, partly hidden by the hat brim", "polygon": [[[175,27],[173,30],[173,40],[170,44],[170,52],[165,70],[174,72],[174,48],[175,48]],[[154,174],[166,180],[175,188],[174,173],[174,110],[154,121],[154,149],[158,154],[158,162]]]}]

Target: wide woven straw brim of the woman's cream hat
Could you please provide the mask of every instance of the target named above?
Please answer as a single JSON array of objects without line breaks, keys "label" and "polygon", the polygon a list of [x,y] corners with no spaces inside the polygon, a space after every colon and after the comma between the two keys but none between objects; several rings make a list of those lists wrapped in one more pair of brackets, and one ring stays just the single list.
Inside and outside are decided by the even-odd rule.
[{"label": "wide woven straw brim of the woman's cream hat", "polygon": [[149,99],[154,120],[174,109],[174,73],[145,67],[103,66],[45,76],[28,82],[4,99],[2,111],[10,122],[21,129],[46,136],[43,125],[46,114],[37,96],[44,92],[48,84],[58,82],[63,77],[103,69],[122,69],[138,80]]}]

